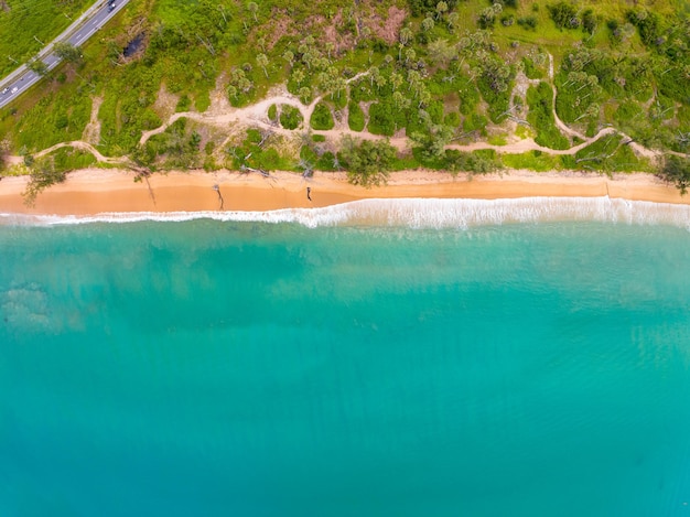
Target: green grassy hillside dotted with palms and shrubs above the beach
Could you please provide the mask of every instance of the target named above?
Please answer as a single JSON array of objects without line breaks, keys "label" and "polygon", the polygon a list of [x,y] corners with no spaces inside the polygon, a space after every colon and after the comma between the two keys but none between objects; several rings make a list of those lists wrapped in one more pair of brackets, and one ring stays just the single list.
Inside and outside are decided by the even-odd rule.
[{"label": "green grassy hillside dotted with palms and shrubs above the beach", "polygon": [[[607,126],[648,148],[688,152],[687,10],[671,0],[139,0],[87,44],[84,62],[62,65],[0,111],[0,137],[23,153],[79,139],[97,99],[93,143],[106,155],[150,168],[238,166],[237,150],[251,139],[229,138],[230,128],[180,123],[142,148],[139,140],[174,111],[248,106],[285,84],[304,104],[323,97],[311,120],[285,123],[323,130],[349,114],[346,128],[410,138],[413,157],[396,162],[406,166],[484,171],[494,155],[470,160],[448,144],[530,137],[568,149],[581,141],[574,134]],[[558,128],[552,106],[571,132]],[[273,111],[276,123],[289,110]],[[261,141],[266,155],[251,160],[326,169],[330,153],[347,165],[334,142],[304,142]],[[570,158],[556,159],[559,168],[580,166]],[[600,170],[648,166],[634,160],[626,154],[616,169],[607,159]]]}]

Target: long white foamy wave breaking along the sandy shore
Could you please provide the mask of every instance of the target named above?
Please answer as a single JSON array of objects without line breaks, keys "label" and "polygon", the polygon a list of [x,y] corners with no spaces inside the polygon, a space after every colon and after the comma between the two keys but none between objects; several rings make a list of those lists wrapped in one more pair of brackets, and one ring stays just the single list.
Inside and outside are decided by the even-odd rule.
[{"label": "long white foamy wave breaking along the sandy shore", "polygon": [[74,225],[89,223],[185,222],[297,223],[319,226],[407,226],[470,228],[483,225],[596,220],[632,225],[672,225],[690,230],[690,205],[604,197],[520,197],[516,200],[362,200],[323,208],[269,212],[104,213],[94,216],[28,216],[0,214],[4,225]]}]

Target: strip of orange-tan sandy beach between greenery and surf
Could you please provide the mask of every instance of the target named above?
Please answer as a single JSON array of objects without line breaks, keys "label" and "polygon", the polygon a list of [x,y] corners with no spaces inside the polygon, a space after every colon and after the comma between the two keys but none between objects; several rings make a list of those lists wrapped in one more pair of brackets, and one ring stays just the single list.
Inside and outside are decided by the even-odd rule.
[{"label": "strip of orange-tan sandy beach between greenery and surf", "polygon": [[[170,172],[134,182],[134,173],[112,169],[73,172],[65,183],[42,192],[26,206],[22,192],[26,177],[0,181],[0,213],[41,215],[96,215],[132,212],[271,211],[322,207],[363,198],[477,198],[526,196],[601,197],[656,203],[690,204],[677,189],[650,174],[625,174],[613,179],[579,173],[510,171],[467,175],[436,171],[407,171],[390,175],[386,186],[365,189],[347,183],[343,173],[316,173],[305,180],[290,172],[258,174],[222,171]],[[150,187],[149,187],[150,186]],[[311,189],[311,198],[306,189]]]}]

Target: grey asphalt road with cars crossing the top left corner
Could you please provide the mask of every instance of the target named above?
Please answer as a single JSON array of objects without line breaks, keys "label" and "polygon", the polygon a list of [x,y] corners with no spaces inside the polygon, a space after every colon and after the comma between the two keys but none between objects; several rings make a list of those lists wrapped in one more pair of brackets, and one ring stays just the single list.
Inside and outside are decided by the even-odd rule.
[{"label": "grey asphalt road with cars crossing the top left corner", "polygon": [[[64,39],[60,39],[58,36],[58,39],[51,42],[47,46],[53,45],[53,43],[57,41],[72,43],[75,46],[83,45],[89,37],[96,34],[96,32],[98,32],[98,30],[107,23],[108,20],[115,17],[119,10],[127,4],[127,2],[129,2],[129,0],[116,0],[115,9],[109,11],[108,2],[106,0],[99,0],[96,2],[96,9],[85,20],[82,20],[75,24],[76,26],[73,25],[63,33],[63,35],[66,34]],[[40,53],[40,55],[44,56],[43,62],[47,65],[48,69],[55,68],[61,62],[60,57],[52,52],[45,55],[44,51]],[[10,104],[22,93],[41,80],[41,78],[42,77],[39,74],[24,69],[23,73],[17,75],[17,77],[14,77],[11,82],[3,83],[0,87],[0,108]]]}]

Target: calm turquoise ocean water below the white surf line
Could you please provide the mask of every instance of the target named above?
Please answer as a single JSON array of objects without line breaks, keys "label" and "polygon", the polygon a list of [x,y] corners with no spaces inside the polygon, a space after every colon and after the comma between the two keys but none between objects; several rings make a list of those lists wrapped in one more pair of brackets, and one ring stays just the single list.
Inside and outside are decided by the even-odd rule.
[{"label": "calm turquoise ocean water below the white surf line", "polygon": [[15,223],[0,516],[690,516],[687,227]]}]

